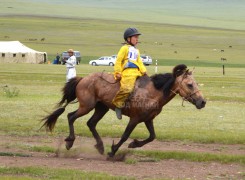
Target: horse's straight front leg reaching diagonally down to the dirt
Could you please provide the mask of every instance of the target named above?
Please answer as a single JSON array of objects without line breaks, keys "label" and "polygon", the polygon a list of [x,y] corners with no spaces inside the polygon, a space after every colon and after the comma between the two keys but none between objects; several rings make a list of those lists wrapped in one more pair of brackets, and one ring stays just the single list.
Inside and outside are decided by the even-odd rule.
[{"label": "horse's straight front leg reaching diagonally down to the dirt", "polygon": [[134,130],[137,124],[138,123],[132,122],[132,120],[130,119],[120,141],[117,144],[114,144],[113,141],[113,144],[111,146],[111,152],[108,153],[110,157],[113,157],[116,154],[119,147],[128,139],[128,137],[130,136],[130,134],[132,133],[132,131]]}]

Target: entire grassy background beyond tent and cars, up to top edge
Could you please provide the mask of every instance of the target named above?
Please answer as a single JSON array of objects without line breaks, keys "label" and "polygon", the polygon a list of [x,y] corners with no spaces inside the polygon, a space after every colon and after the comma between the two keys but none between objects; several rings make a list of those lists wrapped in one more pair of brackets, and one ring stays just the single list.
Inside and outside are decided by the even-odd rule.
[{"label": "entire grassy background beyond tent and cars, up to top edge", "polygon": [[228,66],[244,67],[243,6],[239,0],[143,0],[137,6],[115,0],[72,0],[69,4],[4,0],[0,40],[19,40],[47,52],[51,61],[57,52],[73,48],[81,51],[87,64],[92,58],[117,53],[123,31],[134,26],[143,33],[141,53],[160,65],[173,66],[181,60],[192,66],[218,67],[223,63],[220,59],[226,58]]}]

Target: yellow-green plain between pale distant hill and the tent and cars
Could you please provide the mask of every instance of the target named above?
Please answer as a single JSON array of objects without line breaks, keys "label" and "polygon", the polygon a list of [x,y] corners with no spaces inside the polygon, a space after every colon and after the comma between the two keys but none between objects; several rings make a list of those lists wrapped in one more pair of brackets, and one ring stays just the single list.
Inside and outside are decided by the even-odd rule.
[{"label": "yellow-green plain between pale distant hill and the tent and cars", "polygon": [[[159,65],[183,62],[190,66],[221,67],[225,63],[227,67],[244,67],[245,64],[244,31],[85,18],[0,16],[0,22],[1,41],[19,40],[30,48],[47,52],[50,61],[57,52],[69,48],[81,52],[83,64],[116,54],[123,42],[122,34],[130,24],[143,33],[138,45],[140,52],[151,55],[154,63],[157,59]],[[45,41],[40,41],[41,38]],[[227,61],[221,62],[221,58]]]}]

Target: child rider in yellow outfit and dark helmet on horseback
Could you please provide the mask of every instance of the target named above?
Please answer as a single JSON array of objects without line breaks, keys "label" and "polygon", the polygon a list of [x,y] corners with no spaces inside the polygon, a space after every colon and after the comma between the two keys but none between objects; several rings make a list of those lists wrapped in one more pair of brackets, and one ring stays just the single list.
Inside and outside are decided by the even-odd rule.
[{"label": "child rider in yellow outfit and dark helmet on horseback", "polygon": [[125,45],[121,47],[117,55],[114,77],[116,80],[120,80],[120,90],[112,103],[116,106],[115,111],[118,119],[122,119],[121,109],[134,89],[136,78],[146,74],[140,52],[136,48],[140,35],[141,33],[136,28],[126,29],[124,32]]}]

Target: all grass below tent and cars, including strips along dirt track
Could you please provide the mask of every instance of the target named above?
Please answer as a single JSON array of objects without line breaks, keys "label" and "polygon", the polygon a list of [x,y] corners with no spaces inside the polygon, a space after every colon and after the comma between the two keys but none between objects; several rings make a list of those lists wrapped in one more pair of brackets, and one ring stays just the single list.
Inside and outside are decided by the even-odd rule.
[{"label": "all grass below tent and cars, including strips along dirt track", "polygon": [[[147,67],[149,74],[154,73],[154,66]],[[160,72],[170,72],[171,66],[159,66]],[[77,66],[79,76],[86,76],[92,72],[113,71],[112,67],[93,67],[85,64]],[[176,98],[166,105],[162,113],[154,120],[155,131],[159,141],[181,141],[185,143],[215,143],[215,144],[245,144],[244,104],[245,81],[244,68],[227,68],[226,75],[222,75],[221,69],[217,67],[196,67],[196,80],[200,83],[201,89],[208,100],[208,103],[201,111],[195,109],[191,104],[185,103],[181,106],[181,99]],[[68,134],[66,113],[76,109],[76,105],[67,107],[58,120],[52,134],[47,134],[44,129],[39,130],[39,120],[47,112],[53,111],[55,103],[61,98],[61,88],[65,82],[65,66],[48,64],[1,64],[0,66],[1,87],[7,85],[11,92],[14,88],[19,90],[15,97],[9,97],[0,90],[0,135],[5,137],[19,138],[18,143],[9,141],[7,151],[0,153],[0,156],[30,157],[30,152],[45,152],[54,154],[56,148],[50,145],[30,146],[30,143],[22,141],[22,138],[35,137],[50,138],[65,137]],[[92,113],[92,112],[91,112]],[[91,113],[79,118],[75,122],[77,136],[91,137],[86,126],[86,121]],[[120,137],[128,122],[127,117],[122,121],[116,119],[115,113],[108,114],[98,124],[98,132],[105,137]],[[145,139],[148,131],[143,124],[137,126],[131,138]],[[6,144],[3,144],[6,146]],[[91,145],[91,144],[90,144]],[[2,145],[1,145],[2,146]],[[1,147],[0,146],[0,147]],[[110,151],[110,144],[105,144],[106,152]],[[242,147],[242,146],[241,146]],[[13,153],[18,149],[19,152]],[[70,151],[71,157],[76,151]],[[17,151],[18,152],[18,151]],[[64,151],[64,153],[67,153]],[[121,153],[121,151],[119,151]],[[195,153],[181,151],[155,151],[140,150],[132,151],[133,158],[128,158],[126,165],[136,165],[146,159],[152,163],[161,160],[175,159],[179,161],[192,162],[219,162],[244,164],[244,155],[234,154],[213,154]],[[138,158],[144,157],[142,160]],[[61,158],[62,159],[62,158]],[[74,159],[72,160],[74,161]],[[45,172],[45,173],[44,173]],[[32,165],[31,167],[1,167],[0,174],[5,179],[62,179],[72,177],[74,179],[95,178],[95,179],[129,179],[129,177],[111,176],[98,172],[85,172],[81,170],[64,171],[62,168],[41,168]],[[244,177],[244,176],[243,176]]]}]

